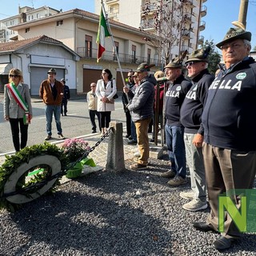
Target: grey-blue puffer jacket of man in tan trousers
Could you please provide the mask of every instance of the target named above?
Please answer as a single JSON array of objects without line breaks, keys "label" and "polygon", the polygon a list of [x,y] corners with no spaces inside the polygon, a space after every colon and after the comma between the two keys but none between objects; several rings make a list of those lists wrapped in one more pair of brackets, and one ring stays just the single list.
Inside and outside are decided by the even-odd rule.
[{"label": "grey-blue puffer jacket of man in tan trousers", "polygon": [[156,84],[157,80],[152,74],[143,78],[140,82],[138,89],[135,91],[134,98],[130,105],[128,105],[134,122],[153,117],[154,86]]}]

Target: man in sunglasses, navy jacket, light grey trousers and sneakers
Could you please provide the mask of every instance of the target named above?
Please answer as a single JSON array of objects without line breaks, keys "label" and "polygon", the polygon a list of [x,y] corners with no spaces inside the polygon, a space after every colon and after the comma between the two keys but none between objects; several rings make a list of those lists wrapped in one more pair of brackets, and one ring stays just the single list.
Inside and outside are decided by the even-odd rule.
[{"label": "man in sunglasses, navy jacket, light grey trousers and sneakers", "polygon": [[185,127],[184,141],[186,147],[186,163],[190,169],[191,190],[182,191],[180,196],[190,200],[182,208],[190,211],[204,210],[206,202],[206,175],[202,158],[203,129],[201,126],[202,110],[206,102],[207,92],[214,75],[209,73],[208,56],[210,47],[205,50],[194,50],[185,65],[192,86],[186,94],[181,108],[181,122]]}]

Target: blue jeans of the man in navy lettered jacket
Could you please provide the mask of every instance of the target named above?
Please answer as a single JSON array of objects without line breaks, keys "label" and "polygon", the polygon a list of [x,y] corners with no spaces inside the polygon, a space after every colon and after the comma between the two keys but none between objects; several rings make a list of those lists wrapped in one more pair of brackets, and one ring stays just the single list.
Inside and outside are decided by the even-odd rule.
[{"label": "blue jeans of the man in navy lettered jacket", "polygon": [[171,163],[171,170],[176,176],[186,178],[186,152],[184,144],[184,127],[165,126],[166,146]]}]

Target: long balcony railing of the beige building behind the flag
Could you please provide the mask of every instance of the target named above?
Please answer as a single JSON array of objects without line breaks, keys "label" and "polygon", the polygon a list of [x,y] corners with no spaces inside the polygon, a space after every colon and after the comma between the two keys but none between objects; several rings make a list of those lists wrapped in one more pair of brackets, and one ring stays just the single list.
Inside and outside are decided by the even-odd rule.
[{"label": "long balcony railing of the beige building behind the flag", "polygon": [[[87,52],[85,47],[78,47],[77,48],[77,54],[79,54],[82,58],[88,58],[88,59],[96,59],[97,58],[97,49],[92,49],[91,52]],[[119,53],[118,54],[119,60],[120,62],[123,63],[142,63],[142,62],[148,62],[148,58],[146,57],[142,57],[142,56],[136,56],[134,58],[133,55],[131,54],[122,54]],[[105,61],[117,61],[117,56],[112,52],[112,51],[108,51],[106,50],[104,52],[104,54],[102,55],[102,60]],[[158,59],[156,58],[150,58],[150,63],[154,63],[155,66],[159,66],[160,63],[158,63]]]}]

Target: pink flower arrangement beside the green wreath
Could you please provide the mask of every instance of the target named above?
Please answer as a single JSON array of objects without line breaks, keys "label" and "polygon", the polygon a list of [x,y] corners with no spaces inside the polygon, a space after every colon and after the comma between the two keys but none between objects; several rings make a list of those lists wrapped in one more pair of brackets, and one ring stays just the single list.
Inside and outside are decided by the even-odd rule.
[{"label": "pink flower arrangement beside the green wreath", "polygon": [[88,142],[84,141],[82,138],[68,138],[63,143],[62,148],[70,162],[77,161],[78,158],[81,158],[82,155],[85,154],[86,150],[90,150]]}]

